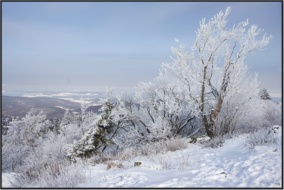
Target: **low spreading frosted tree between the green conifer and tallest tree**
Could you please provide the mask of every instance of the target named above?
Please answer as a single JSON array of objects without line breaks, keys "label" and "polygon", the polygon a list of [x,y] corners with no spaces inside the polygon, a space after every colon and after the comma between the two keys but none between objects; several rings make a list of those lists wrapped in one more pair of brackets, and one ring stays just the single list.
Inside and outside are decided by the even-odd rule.
[{"label": "low spreading frosted tree between the green conifer and tallest tree", "polygon": [[[117,96],[114,113],[119,115],[113,118],[122,122],[125,132],[122,131],[120,136],[124,145],[179,135],[199,114],[199,110],[194,109],[194,104],[187,99],[186,91],[171,84],[162,72],[154,82],[141,82],[139,87],[133,98],[126,94]],[[119,137],[116,139],[118,143]]]}]

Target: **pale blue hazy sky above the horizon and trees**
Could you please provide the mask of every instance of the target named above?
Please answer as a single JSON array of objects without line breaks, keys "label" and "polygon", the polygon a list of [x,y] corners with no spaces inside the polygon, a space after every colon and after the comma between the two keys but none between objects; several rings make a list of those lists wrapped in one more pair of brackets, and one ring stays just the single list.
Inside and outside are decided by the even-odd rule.
[{"label": "pale blue hazy sky above the horizon and trees", "polygon": [[[231,7],[228,28],[248,19],[272,39],[245,61],[282,92],[282,2],[1,2],[2,88],[138,86],[186,50],[202,18]],[[259,39],[262,39],[261,35]],[[87,89],[85,89],[87,90]]]}]

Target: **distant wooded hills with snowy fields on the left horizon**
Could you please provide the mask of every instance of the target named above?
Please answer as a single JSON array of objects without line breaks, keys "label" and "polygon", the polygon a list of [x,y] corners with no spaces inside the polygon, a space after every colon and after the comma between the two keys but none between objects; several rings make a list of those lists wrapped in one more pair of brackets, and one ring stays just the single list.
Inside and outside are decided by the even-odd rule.
[{"label": "distant wooded hills with snowy fields on the left horizon", "polygon": [[[90,106],[87,112],[98,112],[101,105]],[[66,109],[72,112],[81,113],[81,104],[65,99],[47,98],[47,97],[19,97],[19,96],[1,96],[1,117],[25,117],[27,112],[35,108],[43,110],[47,114],[47,119],[53,120],[62,118]]]}]

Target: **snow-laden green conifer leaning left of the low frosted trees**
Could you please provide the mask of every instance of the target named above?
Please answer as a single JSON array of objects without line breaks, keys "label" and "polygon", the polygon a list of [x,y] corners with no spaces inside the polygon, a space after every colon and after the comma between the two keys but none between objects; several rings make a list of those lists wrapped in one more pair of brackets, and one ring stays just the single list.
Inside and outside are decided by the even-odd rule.
[{"label": "snow-laden green conifer leaning left of the low frosted trees", "polygon": [[[113,144],[110,134],[113,131],[115,123],[111,121],[111,111],[115,107],[111,103],[111,91],[106,87],[106,98],[100,99],[99,103],[102,104],[100,108],[101,114],[95,116],[95,120],[89,126],[83,137],[79,141],[74,141],[73,145],[66,145],[65,152],[66,156],[70,160],[74,160],[76,157],[90,157],[100,151],[104,151],[107,146]],[[86,126],[85,126],[86,127]]]}]

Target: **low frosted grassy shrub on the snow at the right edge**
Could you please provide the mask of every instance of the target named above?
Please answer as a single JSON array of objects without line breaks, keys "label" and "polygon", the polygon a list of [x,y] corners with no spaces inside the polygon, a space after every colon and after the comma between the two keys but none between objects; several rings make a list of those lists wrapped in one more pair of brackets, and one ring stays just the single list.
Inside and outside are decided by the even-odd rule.
[{"label": "low frosted grassy shrub on the snow at the right edge", "polygon": [[274,128],[262,128],[248,134],[244,146],[248,151],[252,151],[256,146],[278,144],[279,138],[282,138]]}]

